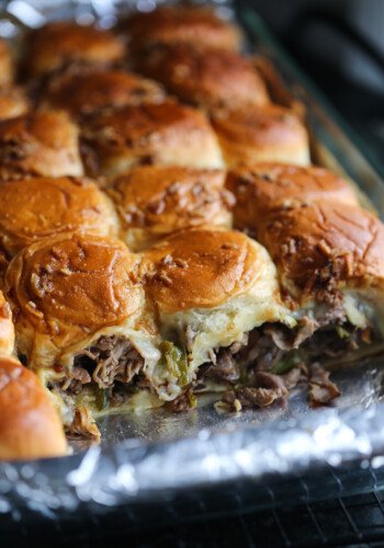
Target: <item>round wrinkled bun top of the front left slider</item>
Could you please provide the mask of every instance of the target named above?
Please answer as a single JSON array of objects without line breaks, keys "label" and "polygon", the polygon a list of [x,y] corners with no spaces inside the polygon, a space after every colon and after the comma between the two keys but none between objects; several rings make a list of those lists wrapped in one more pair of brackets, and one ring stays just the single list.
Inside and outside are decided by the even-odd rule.
[{"label": "round wrinkled bun top of the front left slider", "polygon": [[7,271],[5,287],[15,313],[66,344],[138,313],[143,292],[137,269],[136,256],[118,240],[64,235],[19,253]]}]

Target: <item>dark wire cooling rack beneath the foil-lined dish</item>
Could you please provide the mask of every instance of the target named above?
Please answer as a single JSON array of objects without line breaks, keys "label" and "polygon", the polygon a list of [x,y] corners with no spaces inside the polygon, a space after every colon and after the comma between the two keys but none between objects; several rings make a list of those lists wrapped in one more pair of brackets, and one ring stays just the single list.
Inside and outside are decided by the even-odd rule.
[{"label": "dark wire cooling rack beneath the foil-lined dish", "polygon": [[[313,502],[314,478],[297,477],[292,486],[302,493],[292,504],[269,510],[252,505],[252,486],[231,483],[219,491],[188,493],[160,509],[121,506],[97,516],[84,506],[64,520],[1,522],[1,546],[24,548],[135,547],[380,547],[384,546],[384,467],[331,471],[339,495]],[[346,495],[351,479],[365,492]],[[247,488],[248,487],[248,488]],[[286,486],[285,486],[286,487]],[[284,488],[285,489],[285,488]],[[267,488],[269,496],[279,489]],[[294,493],[294,489],[292,491]],[[25,518],[26,517],[26,518]]]}]

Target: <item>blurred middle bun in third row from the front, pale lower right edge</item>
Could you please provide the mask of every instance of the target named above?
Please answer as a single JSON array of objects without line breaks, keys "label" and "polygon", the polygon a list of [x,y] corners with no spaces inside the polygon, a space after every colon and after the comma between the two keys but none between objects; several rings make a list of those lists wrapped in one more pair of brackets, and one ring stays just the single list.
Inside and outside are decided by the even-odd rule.
[{"label": "blurred middle bun in third row from the front, pale lower right edge", "polygon": [[112,109],[83,125],[90,173],[115,176],[136,164],[221,168],[222,156],[204,114],[173,101]]}]

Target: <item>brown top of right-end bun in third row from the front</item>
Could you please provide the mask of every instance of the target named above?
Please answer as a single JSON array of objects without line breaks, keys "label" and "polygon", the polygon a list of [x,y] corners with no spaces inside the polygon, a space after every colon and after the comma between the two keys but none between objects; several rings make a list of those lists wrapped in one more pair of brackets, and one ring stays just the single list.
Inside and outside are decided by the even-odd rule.
[{"label": "brown top of right-end bun in third row from the front", "polygon": [[213,114],[213,126],[227,140],[249,147],[286,146],[306,136],[295,112],[275,104],[217,110]]}]

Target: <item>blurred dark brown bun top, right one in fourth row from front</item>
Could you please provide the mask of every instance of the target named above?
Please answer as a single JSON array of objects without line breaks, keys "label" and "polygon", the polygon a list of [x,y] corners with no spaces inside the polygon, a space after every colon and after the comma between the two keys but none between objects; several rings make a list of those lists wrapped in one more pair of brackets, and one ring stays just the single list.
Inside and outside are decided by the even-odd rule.
[{"label": "blurred dark brown bun top, right one in fourth row from front", "polygon": [[269,102],[266,84],[252,64],[235,52],[159,45],[138,57],[137,68],[184,101],[205,107]]}]

